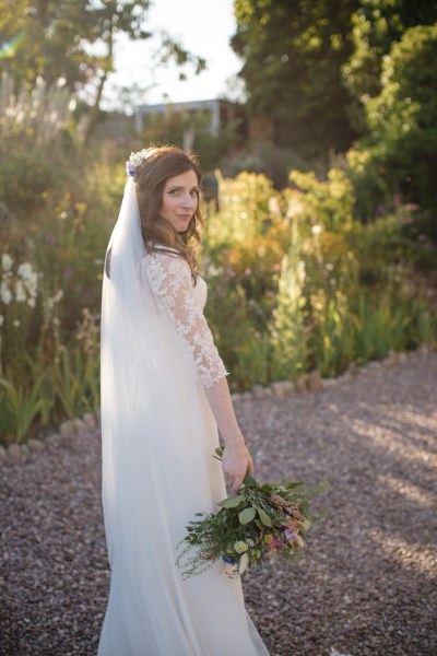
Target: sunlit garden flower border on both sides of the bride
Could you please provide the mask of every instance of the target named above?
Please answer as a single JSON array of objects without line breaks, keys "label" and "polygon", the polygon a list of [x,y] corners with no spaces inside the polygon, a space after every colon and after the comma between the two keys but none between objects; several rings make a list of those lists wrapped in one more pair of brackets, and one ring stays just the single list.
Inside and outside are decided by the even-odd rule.
[{"label": "sunlit garden flower border on both sides of the bride", "polygon": [[[99,161],[78,175],[32,216],[21,199],[2,232],[3,443],[99,402],[102,268],[125,174]],[[220,209],[209,208],[206,313],[234,390],[435,343],[436,314],[411,280],[420,253],[402,233],[404,206],[363,224],[341,171],[292,180],[280,192],[263,175],[218,175]]]}]

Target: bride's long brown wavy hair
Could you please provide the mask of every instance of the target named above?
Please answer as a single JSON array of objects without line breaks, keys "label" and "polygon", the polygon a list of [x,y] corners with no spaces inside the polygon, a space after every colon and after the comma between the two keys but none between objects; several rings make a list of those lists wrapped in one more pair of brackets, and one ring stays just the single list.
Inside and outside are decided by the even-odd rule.
[{"label": "bride's long brown wavy hair", "polygon": [[196,283],[198,273],[197,254],[200,249],[201,231],[204,220],[199,203],[187,230],[178,233],[173,225],[160,215],[163,191],[168,178],[187,171],[193,171],[198,185],[202,174],[197,161],[174,145],[152,145],[135,175],[137,198],[140,207],[141,232],[146,253],[160,251],[163,246],[175,248],[187,260]]}]

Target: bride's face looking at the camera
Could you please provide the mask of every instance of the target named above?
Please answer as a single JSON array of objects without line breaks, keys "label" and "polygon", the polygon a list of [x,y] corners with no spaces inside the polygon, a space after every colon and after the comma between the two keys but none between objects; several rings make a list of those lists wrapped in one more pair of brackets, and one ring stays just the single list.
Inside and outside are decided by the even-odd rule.
[{"label": "bride's face looking at the camera", "polygon": [[160,215],[177,232],[185,232],[199,204],[198,176],[186,171],[166,180]]}]

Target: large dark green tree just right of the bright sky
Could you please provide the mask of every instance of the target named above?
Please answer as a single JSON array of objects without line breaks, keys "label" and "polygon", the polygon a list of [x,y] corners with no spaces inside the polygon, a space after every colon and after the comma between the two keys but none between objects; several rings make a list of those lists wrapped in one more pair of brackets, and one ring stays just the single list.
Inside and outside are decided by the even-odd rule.
[{"label": "large dark green tree just right of the bright sky", "polygon": [[358,0],[235,0],[232,45],[244,59],[252,115],[268,115],[275,141],[309,157],[344,151],[354,137],[341,67],[352,52]]}]

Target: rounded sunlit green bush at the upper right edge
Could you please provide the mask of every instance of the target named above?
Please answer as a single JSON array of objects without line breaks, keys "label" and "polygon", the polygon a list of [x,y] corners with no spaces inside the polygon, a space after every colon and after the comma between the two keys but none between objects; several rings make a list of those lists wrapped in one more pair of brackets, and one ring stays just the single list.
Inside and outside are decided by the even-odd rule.
[{"label": "rounded sunlit green bush at the upper right edge", "polygon": [[366,103],[369,137],[350,153],[357,213],[374,219],[378,204],[395,206],[401,198],[417,210],[422,230],[413,221],[404,231],[415,238],[421,233],[437,238],[436,61],[437,25],[410,28],[393,44],[382,65],[381,92]]}]

